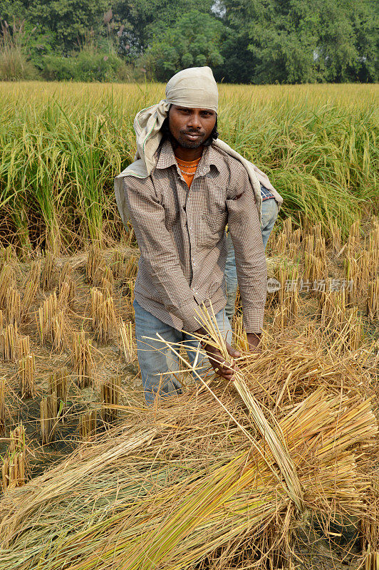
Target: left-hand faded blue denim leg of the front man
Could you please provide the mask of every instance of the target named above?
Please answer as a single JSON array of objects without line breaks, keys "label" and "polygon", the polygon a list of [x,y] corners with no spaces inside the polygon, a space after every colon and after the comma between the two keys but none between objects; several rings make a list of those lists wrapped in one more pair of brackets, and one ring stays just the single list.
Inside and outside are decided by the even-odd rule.
[{"label": "left-hand faded blue denim leg of the front man", "polygon": [[[177,343],[182,341],[182,333],[159,318],[143,309],[134,301],[135,310],[135,338],[137,340],[137,358],[140,365],[143,390],[147,405],[154,403],[157,391],[161,398],[182,393],[182,384],[174,374],[165,374],[168,371],[177,371],[179,362],[177,356],[161,341],[144,338],[156,338],[159,333],[165,341]],[[162,375],[162,380],[161,380]]]}]

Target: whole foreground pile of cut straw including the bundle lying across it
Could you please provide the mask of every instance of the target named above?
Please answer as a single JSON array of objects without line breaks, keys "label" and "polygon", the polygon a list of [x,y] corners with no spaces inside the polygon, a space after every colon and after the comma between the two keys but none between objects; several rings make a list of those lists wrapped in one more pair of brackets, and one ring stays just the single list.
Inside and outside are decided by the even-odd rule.
[{"label": "whole foreground pile of cut straw including the bundle lying across it", "polygon": [[[313,513],[367,518],[370,400],[343,382],[341,363],[321,367],[300,348],[276,352],[286,366],[272,378],[271,348],[244,355],[233,384],[213,379],[130,408],[119,427],[5,494],[0,569],[263,568],[289,560]],[[292,380],[278,391],[284,368]]]}]

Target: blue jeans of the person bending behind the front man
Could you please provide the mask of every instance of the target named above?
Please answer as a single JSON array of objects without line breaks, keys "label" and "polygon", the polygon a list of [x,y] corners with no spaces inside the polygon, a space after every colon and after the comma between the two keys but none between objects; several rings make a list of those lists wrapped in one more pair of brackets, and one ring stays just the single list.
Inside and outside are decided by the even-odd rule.
[{"label": "blue jeans of the person bending behind the front man", "polygon": [[[278,204],[276,204],[276,200],[273,198],[264,200],[262,202],[262,217],[261,217],[261,232],[262,232],[264,249],[266,249],[267,242],[269,241],[269,237],[277,217],[278,217]],[[234,247],[233,247],[232,238],[230,237],[229,233],[228,233],[227,262],[225,264],[225,282],[227,287],[227,306],[225,307],[225,311],[227,313],[229,321],[232,323],[232,318],[234,315],[234,307],[236,304],[238,281],[237,281],[236,259],[234,257]]]}]

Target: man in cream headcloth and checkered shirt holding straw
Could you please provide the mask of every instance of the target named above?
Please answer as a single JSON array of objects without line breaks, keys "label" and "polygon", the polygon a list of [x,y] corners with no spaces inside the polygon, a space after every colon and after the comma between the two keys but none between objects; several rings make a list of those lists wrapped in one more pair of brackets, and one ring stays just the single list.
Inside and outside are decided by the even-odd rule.
[{"label": "man in cream headcloth and checkered shirt holding straw", "polygon": [[[217,84],[210,68],[173,76],[166,98],[135,118],[137,160],[115,180],[124,223],[130,215],[138,246],[135,328],[145,399],[180,393],[178,363],[158,340],[185,343],[190,361],[198,346],[199,306],[212,306],[230,346],[224,268],[229,233],[235,250],[244,327],[256,351],[266,300],[266,259],[259,227],[256,169],[217,140]],[[260,172],[260,171],[258,171]],[[149,338],[149,340],[147,340]],[[204,343],[209,362],[227,380],[234,374],[219,351]]]}]

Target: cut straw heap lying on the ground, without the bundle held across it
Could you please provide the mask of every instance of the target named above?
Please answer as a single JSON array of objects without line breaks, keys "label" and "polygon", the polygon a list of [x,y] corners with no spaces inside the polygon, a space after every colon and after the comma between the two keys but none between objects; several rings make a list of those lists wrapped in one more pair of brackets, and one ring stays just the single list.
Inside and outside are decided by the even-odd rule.
[{"label": "cut straw heap lying on the ground, without the bundle held across it", "polygon": [[[284,528],[271,548],[285,551],[291,526],[300,523],[266,442],[262,457],[249,440],[236,445],[229,427],[226,440],[236,442],[229,451],[202,455],[209,450],[209,440],[199,447],[204,433],[210,427],[212,441],[223,438],[226,417],[201,393],[190,403],[131,413],[129,423],[0,503],[0,568],[190,570],[209,559],[215,567],[246,567],[242,562],[258,564],[259,557],[264,564],[279,521]],[[246,416],[244,423],[248,428]],[[318,390],[279,420],[279,430],[306,510],[331,517],[363,511],[367,480],[352,449],[362,452],[377,432],[368,401]]]}]

